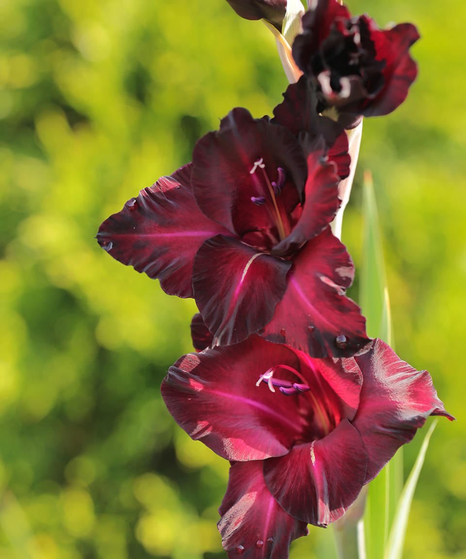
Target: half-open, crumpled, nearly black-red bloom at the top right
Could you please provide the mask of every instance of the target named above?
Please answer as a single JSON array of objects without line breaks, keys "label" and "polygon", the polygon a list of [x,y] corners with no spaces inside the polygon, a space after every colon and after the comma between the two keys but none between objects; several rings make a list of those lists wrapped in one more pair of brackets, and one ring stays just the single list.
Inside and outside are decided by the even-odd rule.
[{"label": "half-open, crumpled, nearly black-red bloom at the top right", "polygon": [[341,122],[355,126],[361,115],[387,115],[401,105],[417,75],[409,55],[416,27],[380,30],[366,15],[351,17],[337,0],[311,4],[293,58],[318,92],[319,112],[335,106]]}]

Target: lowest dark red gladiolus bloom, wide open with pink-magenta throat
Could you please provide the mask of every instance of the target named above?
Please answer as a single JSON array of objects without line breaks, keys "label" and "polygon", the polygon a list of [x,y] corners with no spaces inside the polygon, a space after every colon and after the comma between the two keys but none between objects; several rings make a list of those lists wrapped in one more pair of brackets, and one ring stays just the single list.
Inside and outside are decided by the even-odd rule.
[{"label": "lowest dark red gladiolus bloom, wide open with pink-magenta throat", "polygon": [[283,559],[306,523],[340,518],[427,417],[453,419],[429,373],[380,340],[314,359],[253,335],[181,357],[162,396],[191,438],[233,462],[219,522],[230,557],[241,546]]}]

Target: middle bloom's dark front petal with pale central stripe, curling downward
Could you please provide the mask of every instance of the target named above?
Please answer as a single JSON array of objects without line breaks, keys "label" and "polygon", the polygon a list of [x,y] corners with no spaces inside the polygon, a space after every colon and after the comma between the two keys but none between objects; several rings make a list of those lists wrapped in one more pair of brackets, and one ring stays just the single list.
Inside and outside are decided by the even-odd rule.
[{"label": "middle bloom's dark front petal with pale central stripe, curling downward", "polygon": [[290,266],[223,235],[203,244],[194,261],[192,286],[214,345],[241,342],[271,320]]}]

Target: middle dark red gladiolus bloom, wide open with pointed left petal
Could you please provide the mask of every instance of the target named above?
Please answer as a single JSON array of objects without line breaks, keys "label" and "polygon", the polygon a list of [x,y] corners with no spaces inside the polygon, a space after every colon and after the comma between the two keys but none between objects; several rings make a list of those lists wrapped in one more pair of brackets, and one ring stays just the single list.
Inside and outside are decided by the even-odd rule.
[{"label": "middle dark red gladiolus bloom, wide open with pointed left petal", "polygon": [[[263,335],[314,356],[347,356],[367,342],[345,296],[354,267],[328,224],[338,209],[341,139],[253,119],[236,108],[201,138],[192,164],[159,179],[109,217],[98,243],[114,258],[192,297],[214,345]],[[329,151],[330,153],[330,151]]]}]

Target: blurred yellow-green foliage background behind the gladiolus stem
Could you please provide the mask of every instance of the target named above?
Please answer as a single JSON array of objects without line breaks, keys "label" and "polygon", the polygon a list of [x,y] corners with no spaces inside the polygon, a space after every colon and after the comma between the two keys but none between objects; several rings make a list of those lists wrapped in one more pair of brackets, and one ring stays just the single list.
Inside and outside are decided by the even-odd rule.
[{"label": "blurred yellow-green foliage background behind the gladiolus stem", "polygon": [[[397,352],[429,369],[458,418],[432,437],[405,557],[464,559],[466,10],[350,8],[380,25],[414,21],[423,36],[406,103],[364,124],[343,241],[357,265],[369,168]],[[274,39],[224,0],[3,0],[0,37],[0,557],[225,557],[215,523],[227,464],[159,396],[191,350],[194,303],[93,237],[232,107],[271,113],[286,87]],[[316,557],[322,532],[292,559]]]}]

